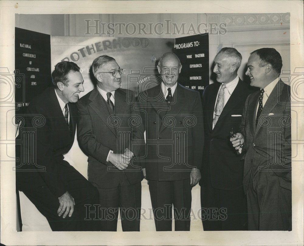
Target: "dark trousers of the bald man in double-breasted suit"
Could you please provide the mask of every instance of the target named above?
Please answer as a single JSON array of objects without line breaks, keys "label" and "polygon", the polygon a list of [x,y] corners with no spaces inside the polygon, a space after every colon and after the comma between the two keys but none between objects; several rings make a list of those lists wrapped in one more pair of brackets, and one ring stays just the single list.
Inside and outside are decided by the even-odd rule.
[{"label": "dark trousers of the bald man in double-breasted suit", "polygon": [[190,179],[149,180],[149,190],[156,231],[172,231],[172,204],[175,231],[190,231]]}]

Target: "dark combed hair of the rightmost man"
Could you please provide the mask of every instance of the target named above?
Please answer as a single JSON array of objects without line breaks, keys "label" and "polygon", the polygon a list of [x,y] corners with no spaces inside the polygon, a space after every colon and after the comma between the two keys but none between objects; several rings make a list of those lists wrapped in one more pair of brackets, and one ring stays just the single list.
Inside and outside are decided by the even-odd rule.
[{"label": "dark combed hair of the rightmost man", "polygon": [[265,66],[267,63],[271,64],[272,68],[278,73],[281,73],[282,69],[282,57],[279,52],[276,51],[274,48],[262,48],[257,49],[250,53],[257,54],[261,58],[261,62],[259,64],[260,67]]}]

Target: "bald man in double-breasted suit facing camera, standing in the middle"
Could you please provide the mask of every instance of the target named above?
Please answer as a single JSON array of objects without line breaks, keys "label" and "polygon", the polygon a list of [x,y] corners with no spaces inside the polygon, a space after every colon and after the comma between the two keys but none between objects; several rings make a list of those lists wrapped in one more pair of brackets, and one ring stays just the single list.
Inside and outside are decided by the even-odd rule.
[{"label": "bald man in double-breasted suit facing camera, standing in the middle", "polygon": [[177,83],[178,57],[165,53],[157,66],[161,83],[139,94],[146,130],[143,167],[157,231],[190,230],[191,186],[199,182],[204,140],[198,92]]}]

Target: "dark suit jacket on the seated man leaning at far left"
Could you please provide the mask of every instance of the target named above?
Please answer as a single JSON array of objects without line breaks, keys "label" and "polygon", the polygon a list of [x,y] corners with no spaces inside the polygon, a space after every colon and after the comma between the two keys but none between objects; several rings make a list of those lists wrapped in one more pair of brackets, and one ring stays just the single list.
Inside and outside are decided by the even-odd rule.
[{"label": "dark suit jacket on the seated man leaning at far left", "polygon": [[64,171],[66,168],[63,167],[71,167],[71,165],[64,160],[63,154],[67,153],[73,145],[77,116],[75,103],[68,103],[68,106],[72,134],[68,130],[54,87],[45,89],[30,102],[26,110],[25,126],[22,126],[21,131],[27,128],[26,137],[29,137],[32,130],[36,129],[33,133],[36,136],[36,146],[27,145],[26,140],[23,140],[24,150],[27,151],[26,158],[36,156],[36,165],[22,165],[21,168],[34,167],[37,170],[44,168],[44,171],[17,169],[17,186],[20,190],[47,185],[57,197],[67,191],[66,171]]}]

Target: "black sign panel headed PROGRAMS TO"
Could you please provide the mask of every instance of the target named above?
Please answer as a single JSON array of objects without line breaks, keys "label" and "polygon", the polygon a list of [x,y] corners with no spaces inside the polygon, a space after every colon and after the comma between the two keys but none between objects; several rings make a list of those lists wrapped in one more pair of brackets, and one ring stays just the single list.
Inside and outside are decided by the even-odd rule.
[{"label": "black sign panel headed PROGRAMS TO", "polygon": [[208,33],[175,39],[174,53],[182,64],[179,83],[202,95],[209,85]]}]

